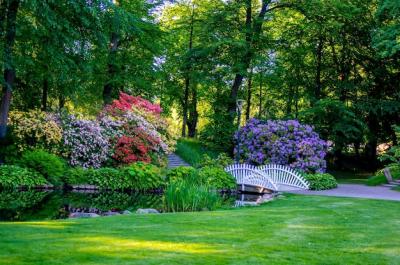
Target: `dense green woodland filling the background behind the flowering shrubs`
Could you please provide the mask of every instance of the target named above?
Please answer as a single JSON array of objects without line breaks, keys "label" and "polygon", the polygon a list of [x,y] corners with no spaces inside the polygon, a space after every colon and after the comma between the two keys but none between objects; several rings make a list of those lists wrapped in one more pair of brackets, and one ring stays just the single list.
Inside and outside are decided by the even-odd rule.
[{"label": "dense green woodland filling the background behind the flowering shrubs", "polygon": [[244,121],[313,125],[337,166],[396,144],[397,0],[1,0],[0,49],[3,142],[9,110],[90,116],[123,91],[226,151],[238,98]]}]

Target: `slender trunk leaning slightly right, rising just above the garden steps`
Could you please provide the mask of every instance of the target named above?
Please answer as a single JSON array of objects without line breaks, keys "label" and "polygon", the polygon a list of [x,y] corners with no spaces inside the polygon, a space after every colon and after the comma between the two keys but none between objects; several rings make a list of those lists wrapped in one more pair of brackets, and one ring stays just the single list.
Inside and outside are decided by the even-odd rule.
[{"label": "slender trunk leaning slightly right, rising just above the garden steps", "polygon": [[[192,14],[190,18],[190,29],[189,29],[189,56],[191,57],[191,51],[193,48],[193,30],[194,30],[194,5],[192,5]],[[190,75],[191,75],[191,59],[187,62],[187,70],[185,73],[185,92],[183,98],[183,118],[182,118],[182,137],[186,137],[186,127],[188,125],[188,109],[189,109],[189,92],[190,92]]]}]

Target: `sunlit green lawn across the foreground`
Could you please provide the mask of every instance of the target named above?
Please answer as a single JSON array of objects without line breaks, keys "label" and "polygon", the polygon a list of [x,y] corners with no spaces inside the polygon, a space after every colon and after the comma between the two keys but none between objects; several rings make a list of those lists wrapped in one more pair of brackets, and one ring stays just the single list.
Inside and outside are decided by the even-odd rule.
[{"label": "sunlit green lawn across the foreground", "polygon": [[400,264],[400,203],[294,196],[216,212],[0,223],[0,264]]}]

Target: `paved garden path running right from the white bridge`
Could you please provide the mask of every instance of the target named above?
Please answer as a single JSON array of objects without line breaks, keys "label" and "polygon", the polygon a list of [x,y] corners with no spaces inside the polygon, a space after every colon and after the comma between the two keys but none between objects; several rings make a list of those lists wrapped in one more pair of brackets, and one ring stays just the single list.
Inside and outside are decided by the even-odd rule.
[{"label": "paved garden path running right from the white bridge", "polygon": [[400,192],[394,191],[389,187],[371,187],[361,184],[339,184],[337,188],[331,190],[299,190],[291,191],[291,193],[400,201]]}]

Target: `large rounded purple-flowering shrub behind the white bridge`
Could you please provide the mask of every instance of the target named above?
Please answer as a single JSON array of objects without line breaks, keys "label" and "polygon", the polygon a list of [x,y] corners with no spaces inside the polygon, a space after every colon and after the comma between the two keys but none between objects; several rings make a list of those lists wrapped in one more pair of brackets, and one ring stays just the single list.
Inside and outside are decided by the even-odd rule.
[{"label": "large rounded purple-flowering shrub behind the white bridge", "polygon": [[311,126],[296,120],[251,119],[235,134],[235,141],[240,143],[240,157],[247,163],[288,165],[305,172],[326,169],[324,157],[328,144]]}]

